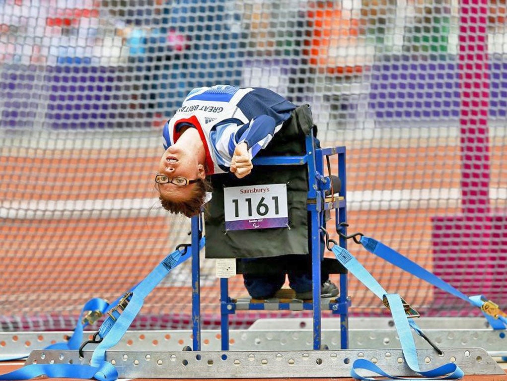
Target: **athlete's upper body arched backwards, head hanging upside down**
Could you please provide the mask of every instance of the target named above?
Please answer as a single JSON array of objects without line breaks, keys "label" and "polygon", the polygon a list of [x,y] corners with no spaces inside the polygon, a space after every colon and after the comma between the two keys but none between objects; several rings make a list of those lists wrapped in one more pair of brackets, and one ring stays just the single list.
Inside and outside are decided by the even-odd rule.
[{"label": "athlete's upper body arched backwards, head hanging upside down", "polygon": [[166,150],[155,177],[162,206],[187,217],[199,214],[206,175],[248,175],[252,158],[295,108],[263,88],[216,85],[192,90],[163,129]]}]

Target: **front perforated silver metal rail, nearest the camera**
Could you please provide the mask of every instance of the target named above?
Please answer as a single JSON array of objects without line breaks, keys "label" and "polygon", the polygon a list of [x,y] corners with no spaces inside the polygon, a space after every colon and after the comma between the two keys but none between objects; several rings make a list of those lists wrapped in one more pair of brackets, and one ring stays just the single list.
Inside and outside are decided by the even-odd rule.
[{"label": "front perforated silver metal rail, nearest the camera", "polygon": [[[449,362],[457,363],[465,374],[505,374],[482,348],[443,349],[417,352],[422,370]],[[32,351],[28,364],[87,364],[92,351]],[[385,350],[307,350],[307,351],[120,351],[106,352],[106,361],[119,372],[119,378],[271,378],[271,377],[350,377],[352,363],[366,358],[386,372],[414,376],[401,349]],[[366,376],[368,374],[364,372]]]}]

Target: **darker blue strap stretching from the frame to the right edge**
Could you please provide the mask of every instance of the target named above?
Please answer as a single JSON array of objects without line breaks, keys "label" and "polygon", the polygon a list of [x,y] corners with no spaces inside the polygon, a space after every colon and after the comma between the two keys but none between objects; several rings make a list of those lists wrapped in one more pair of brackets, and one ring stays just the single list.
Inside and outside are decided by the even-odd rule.
[{"label": "darker blue strap stretching from the frame to the right edge", "polygon": [[[445,282],[441,278],[436,275],[430,273],[429,271],[423,269],[417,263],[411,261],[407,257],[403,256],[399,252],[391,249],[390,247],[384,245],[382,242],[374,240],[370,237],[361,237],[361,244],[365,247],[369,252],[385,259],[389,263],[398,266],[400,269],[405,270],[406,272],[422,279],[441,290],[444,290],[454,296],[457,296],[468,303],[472,304],[472,306],[478,307],[481,309],[483,315],[488,320],[489,324],[493,329],[506,329],[507,328],[507,318],[502,315],[496,315],[493,317],[484,312],[484,309],[488,306],[488,301],[483,295],[474,295],[474,296],[466,296],[461,291],[457,290],[449,283]],[[491,304],[490,304],[491,305]],[[495,305],[496,306],[496,305]]]}]

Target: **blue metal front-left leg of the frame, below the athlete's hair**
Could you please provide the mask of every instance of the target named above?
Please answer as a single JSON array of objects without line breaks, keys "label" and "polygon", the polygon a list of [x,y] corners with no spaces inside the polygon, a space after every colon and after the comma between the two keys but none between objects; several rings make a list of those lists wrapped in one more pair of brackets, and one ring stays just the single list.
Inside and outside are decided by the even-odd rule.
[{"label": "blue metal front-left leg of the frame, below the athlete's hair", "polygon": [[192,217],[192,348],[201,350],[201,286],[199,269],[199,217]]}]

